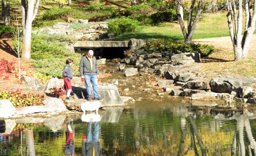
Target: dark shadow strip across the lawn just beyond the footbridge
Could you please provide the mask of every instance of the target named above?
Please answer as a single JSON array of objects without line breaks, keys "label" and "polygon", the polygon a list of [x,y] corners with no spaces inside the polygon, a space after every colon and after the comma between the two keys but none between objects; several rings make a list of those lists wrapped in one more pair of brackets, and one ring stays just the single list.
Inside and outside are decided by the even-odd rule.
[{"label": "dark shadow strip across the lawn just beyond the footbridge", "polygon": [[154,39],[173,39],[173,40],[183,40],[183,37],[179,37],[179,36],[166,36],[160,33],[126,33],[126,34],[122,34],[119,35],[117,37],[115,37],[113,39],[113,41],[126,41],[126,40],[130,40],[130,39],[150,39],[150,38],[154,38]]}]

